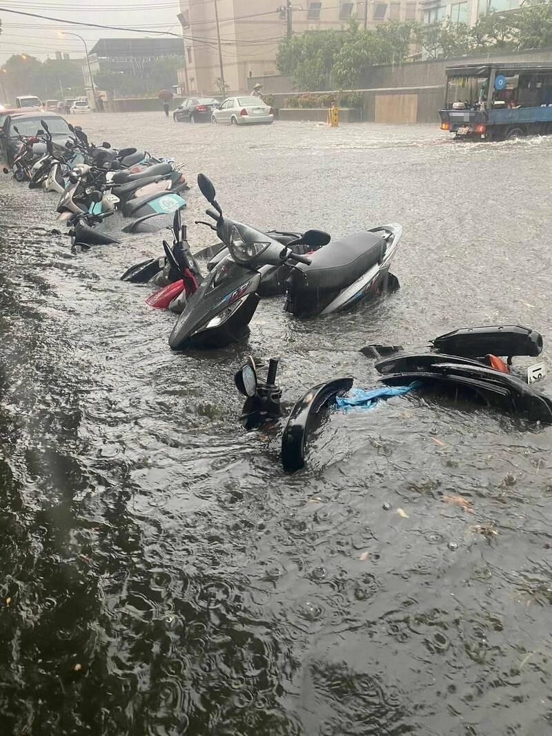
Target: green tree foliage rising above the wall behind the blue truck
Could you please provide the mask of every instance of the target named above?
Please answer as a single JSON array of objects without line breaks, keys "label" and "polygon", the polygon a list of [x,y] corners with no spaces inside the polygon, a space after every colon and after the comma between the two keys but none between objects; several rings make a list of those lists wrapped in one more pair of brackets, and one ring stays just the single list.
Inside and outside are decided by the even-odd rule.
[{"label": "green tree foliage rising above the wall behind the blue truck", "polygon": [[346,29],[284,39],[277,67],[291,77],[296,89],[353,88],[371,66],[406,61],[414,44],[431,59],[552,46],[552,1],[524,5],[517,13],[483,15],[473,28],[448,19],[431,25],[392,21],[364,30],[353,18]]}]

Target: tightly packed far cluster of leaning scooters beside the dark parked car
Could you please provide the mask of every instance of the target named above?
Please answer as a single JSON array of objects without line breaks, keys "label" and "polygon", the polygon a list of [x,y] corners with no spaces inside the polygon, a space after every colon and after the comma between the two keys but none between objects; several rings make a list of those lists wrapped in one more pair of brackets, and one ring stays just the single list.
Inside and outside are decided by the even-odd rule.
[{"label": "tightly packed far cluster of leaning scooters beside the dark parked car", "polygon": [[[186,205],[188,189],[182,166],[174,160],[152,156],[135,148],[114,149],[104,142],[88,141],[81,127],[68,125],[72,138],[64,145],[54,141],[46,120],[40,121],[36,135],[19,135],[19,149],[13,159],[15,180],[29,188],[60,194],[58,219],[72,228],[74,241],[87,244],[118,243],[96,227],[118,211],[132,219],[126,233],[155,232],[165,220],[158,215]],[[4,173],[9,174],[8,169]]]}]

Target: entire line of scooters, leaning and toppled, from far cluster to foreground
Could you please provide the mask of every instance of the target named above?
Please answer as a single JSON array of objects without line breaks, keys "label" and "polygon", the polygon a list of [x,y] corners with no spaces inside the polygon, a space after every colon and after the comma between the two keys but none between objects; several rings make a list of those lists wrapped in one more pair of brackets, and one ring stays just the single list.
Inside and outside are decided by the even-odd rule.
[{"label": "entire line of scooters, leaning and toppled, from far cluster to foreground", "polygon": [[[285,311],[311,318],[355,308],[399,287],[389,272],[402,235],[399,224],[336,239],[322,230],[263,233],[227,216],[216,200],[213,183],[199,174],[199,190],[210,206],[209,221],[197,224],[210,227],[216,242],[193,254],[182,217],[181,193],[188,184],[172,160],[136,149],[116,150],[107,143],[94,146],[78,127],[71,127],[74,142],[61,148],[53,143],[46,121],[42,124],[35,137],[21,138],[13,175],[28,180],[32,188],[61,194],[57,211],[71,228],[74,248],[118,242],[98,227],[115,210],[134,218],[123,228],[127,233],[162,228],[171,232],[171,242],[163,240],[160,257],[135,264],[121,279],[152,283],[158,289],[147,303],[179,315],[169,336],[174,350],[224,347],[243,339],[260,300],[266,297],[284,296]],[[206,269],[199,266],[201,261]],[[314,417],[340,401],[372,406],[384,398],[430,387],[455,396],[461,392],[528,420],[552,423],[552,400],[529,385],[545,374],[544,364],[530,366],[525,379],[510,370],[512,356],[541,353],[539,333],[517,325],[484,326],[454,330],[431,344],[431,350],[422,353],[381,344],[361,348],[375,359],[383,388],[361,392],[358,403],[354,396],[343,399],[353,386],[350,377],[332,378],[308,389],[283,427],[284,468],[302,467],[307,434],[316,425]],[[502,357],[508,358],[507,363]],[[241,415],[247,429],[280,422],[282,392],[276,369],[273,358],[263,381],[250,359],[236,373],[238,391],[247,397]]]}]

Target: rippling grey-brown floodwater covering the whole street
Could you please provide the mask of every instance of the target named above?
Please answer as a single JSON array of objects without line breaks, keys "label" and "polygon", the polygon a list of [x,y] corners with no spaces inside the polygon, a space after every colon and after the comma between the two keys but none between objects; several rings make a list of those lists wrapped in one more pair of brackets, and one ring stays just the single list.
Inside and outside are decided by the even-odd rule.
[{"label": "rippling grey-brown floodwater covering the whole street", "polygon": [[409,394],[334,412],[285,475],[232,376],[280,356],[289,405],[374,386],[369,342],[497,322],[539,330],[552,372],[552,137],[79,122],[260,229],[400,222],[402,288],[307,322],[261,302],[248,342],[171,353],[174,316],[118,280],[161,236],[73,254],[55,196],[1,181],[0,732],[550,734],[552,428]]}]

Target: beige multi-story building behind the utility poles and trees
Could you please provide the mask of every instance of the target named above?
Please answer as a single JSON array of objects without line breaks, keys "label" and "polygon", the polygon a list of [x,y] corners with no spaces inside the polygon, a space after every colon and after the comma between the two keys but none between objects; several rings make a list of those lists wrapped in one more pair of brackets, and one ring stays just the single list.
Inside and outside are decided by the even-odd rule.
[{"label": "beige multi-story building behind the utility poles and trees", "polygon": [[[227,88],[236,92],[247,89],[248,77],[277,74],[277,46],[289,24],[286,0],[180,0],[180,7],[188,77],[187,85],[186,74],[179,77],[184,91],[222,91],[224,77]],[[353,15],[369,28],[420,20],[416,0],[304,0],[292,2],[289,13],[294,34],[344,28]]]}]

